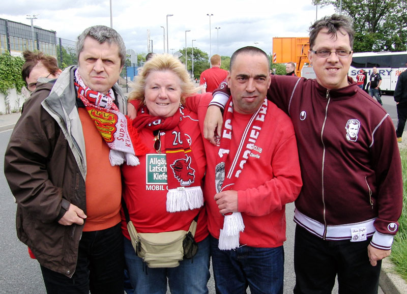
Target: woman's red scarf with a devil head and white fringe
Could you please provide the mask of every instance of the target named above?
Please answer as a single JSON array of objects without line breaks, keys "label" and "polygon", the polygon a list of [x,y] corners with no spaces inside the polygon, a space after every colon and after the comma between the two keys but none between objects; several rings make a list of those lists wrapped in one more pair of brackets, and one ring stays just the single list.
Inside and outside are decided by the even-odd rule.
[{"label": "woman's red scarf with a devil head and white fringe", "polygon": [[[165,146],[167,164],[167,212],[192,210],[203,205],[200,179],[195,179],[197,163],[191,146],[179,127],[179,123],[183,119],[182,111],[181,106],[170,117],[152,116],[148,113],[146,105],[143,105],[133,120],[133,127],[138,131],[142,128],[151,131],[158,130],[159,140],[163,140],[161,143]],[[170,135],[173,133],[179,135],[177,140],[171,139]]]}]

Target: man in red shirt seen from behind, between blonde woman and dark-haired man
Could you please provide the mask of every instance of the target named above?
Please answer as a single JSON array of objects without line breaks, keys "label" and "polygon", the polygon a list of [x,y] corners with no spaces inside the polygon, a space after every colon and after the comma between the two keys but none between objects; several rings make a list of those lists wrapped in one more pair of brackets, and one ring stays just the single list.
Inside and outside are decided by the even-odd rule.
[{"label": "man in red shirt seen from behind, between blonde woman and dark-haired man", "polygon": [[211,68],[204,70],[200,74],[199,85],[203,87],[203,89],[201,90],[202,93],[214,91],[226,78],[227,71],[221,69],[220,64],[220,55],[215,54],[211,57]]}]

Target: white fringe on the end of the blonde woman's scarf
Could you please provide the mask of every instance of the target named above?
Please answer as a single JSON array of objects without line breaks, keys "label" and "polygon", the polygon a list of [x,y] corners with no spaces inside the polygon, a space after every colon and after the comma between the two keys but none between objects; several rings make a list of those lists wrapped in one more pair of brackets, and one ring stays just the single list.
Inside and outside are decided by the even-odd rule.
[{"label": "white fringe on the end of the blonde woman's scarf", "polygon": [[203,206],[203,195],[200,187],[178,187],[167,192],[167,212],[178,212],[197,209]]}]

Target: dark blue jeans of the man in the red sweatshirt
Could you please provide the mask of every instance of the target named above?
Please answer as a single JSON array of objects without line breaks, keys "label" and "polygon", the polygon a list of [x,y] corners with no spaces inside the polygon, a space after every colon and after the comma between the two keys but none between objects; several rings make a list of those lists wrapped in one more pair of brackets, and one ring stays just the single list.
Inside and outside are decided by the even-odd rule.
[{"label": "dark blue jeans of the man in the red sweatshirt", "polygon": [[219,240],[211,236],[212,267],[217,294],[282,294],[284,248],[241,246],[220,250]]}]

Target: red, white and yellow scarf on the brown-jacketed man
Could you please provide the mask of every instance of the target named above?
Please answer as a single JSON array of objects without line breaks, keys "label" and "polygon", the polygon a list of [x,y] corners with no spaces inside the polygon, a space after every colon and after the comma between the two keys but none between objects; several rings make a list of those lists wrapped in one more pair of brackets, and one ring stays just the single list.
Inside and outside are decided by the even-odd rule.
[{"label": "red, white and yellow scarf on the brown-jacketed man", "polygon": [[110,164],[121,165],[124,161],[133,166],[140,164],[136,155],[146,154],[147,148],[141,143],[137,130],[114,104],[113,90],[104,95],[90,89],[83,83],[78,70],[75,71],[74,84],[78,98],[110,148]]}]

